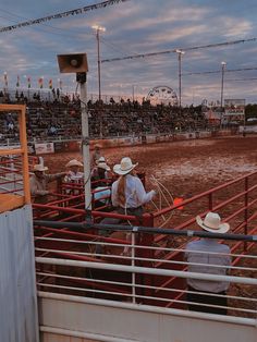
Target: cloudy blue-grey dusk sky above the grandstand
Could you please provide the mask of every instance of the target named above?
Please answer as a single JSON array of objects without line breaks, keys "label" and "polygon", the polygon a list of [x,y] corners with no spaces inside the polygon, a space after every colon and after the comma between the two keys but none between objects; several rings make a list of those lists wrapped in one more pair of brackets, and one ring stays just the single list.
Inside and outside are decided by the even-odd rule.
[{"label": "cloudy blue-grey dusk sky above the grandstand", "polygon": [[[102,1],[1,1],[0,28]],[[182,106],[221,100],[222,62],[227,63],[223,99],[256,103],[256,0],[127,0],[1,32],[0,88],[5,87],[5,75],[10,89],[16,88],[17,77],[19,89],[27,89],[29,77],[32,88],[38,88],[39,78],[45,88],[49,80],[59,87],[61,80],[64,93],[77,91],[75,74],[60,73],[57,54],[87,53],[87,94],[88,98],[97,96],[97,38],[91,26],[100,25],[106,28],[99,41],[102,98],[147,97],[159,86],[179,96],[179,54],[159,52],[181,49],[185,50],[181,59]],[[245,41],[232,44],[238,40]],[[223,42],[228,44],[219,46]],[[209,45],[212,47],[206,47]],[[154,56],[135,58],[147,53]],[[128,56],[134,58],[123,59]],[[114,58],[121,60],[108,61]]]}]

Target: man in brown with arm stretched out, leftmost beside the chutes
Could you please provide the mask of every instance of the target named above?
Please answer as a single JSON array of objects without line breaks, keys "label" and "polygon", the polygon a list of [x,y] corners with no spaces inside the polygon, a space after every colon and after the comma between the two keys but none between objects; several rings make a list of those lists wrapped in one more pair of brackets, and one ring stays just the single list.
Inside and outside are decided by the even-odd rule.
[{"label": "man in brown with arm stretched out, leftmost beside the chutes", "polygon": [[48,183],[61,179],[66,174],[66,172],[60,172],[56,174],[45,174],[48,168],[42,164],[34,166],[34,174],[30,176],[30,194],[32,200],[34,203],[44,204],[48,201],[48,195],[50,191],[48,190]]}]

